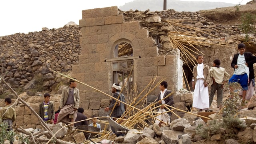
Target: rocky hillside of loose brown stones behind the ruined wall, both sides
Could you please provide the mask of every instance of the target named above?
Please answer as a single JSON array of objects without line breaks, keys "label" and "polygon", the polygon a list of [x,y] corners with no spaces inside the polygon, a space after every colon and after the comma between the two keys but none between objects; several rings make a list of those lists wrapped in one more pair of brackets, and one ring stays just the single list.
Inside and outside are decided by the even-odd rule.
[{"label": "rocky hillside of loose brown stones behind the ruined wall, both sides", "polygon": [[[242,12],[255,14],[255,10],[255,2],[246,4],[245,7],[239,7],[240,14]],[[120,10],[120,14],[124,15],[125,22],[139,20],[141,28],[148,29],[153,38],[166,35],[166,30],[162,29],[162,26],[168,25],[163,22],[164,20],[179,20],[182,24],[201,28],[208,33],[197,31],[198,37],[208,39],[216,37],[215,39],[222,40],[220,43],[234,47],[234,41],[243,38],[238,26],[240,21],[236,19],[239,17],[234,16],[230,22],[222,23],[222,19],[230,19],[228,14],[232,13],[231,11],[231,8],[228,7],[200,12],[176,12],[175,10],[155,12],[130,10],[124,12]],[[215,17],[210,17],[210,13],[215,13],[211,14]],[[225,15],[227,17],[224,17]],[[162,22],[158,24],[150,22],[150,18],[153,16],[160,16]],[[179,31],[184,30],[188,30],[188,28],[180,27],[179,29]],[[67,25],[63,28],[50,30],[42,28],[40,32],[16,33],[0,37],[0,72],[2,78],[18,92],[25,91],[30,95],[34,95],[37,91],[56,92],[56,87],[65,80],[49,69],[65,74],[72,71],[73,64],[79,62],[81,51],[79,38],[80,28],[76,25]],[[160,55],[168,54],[171,51],[159,48]],[[250,50],[250,48],[255,50],[255,44],[250,44],[248,49]],[[4,84],[0,86],[0,94],[10,94]]]}]

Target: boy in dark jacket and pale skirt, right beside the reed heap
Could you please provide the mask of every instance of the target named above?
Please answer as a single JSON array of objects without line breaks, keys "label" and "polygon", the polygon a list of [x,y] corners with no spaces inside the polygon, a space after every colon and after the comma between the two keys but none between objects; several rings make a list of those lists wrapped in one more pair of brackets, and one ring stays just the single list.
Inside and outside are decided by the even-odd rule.
[{"label": "boy in dark jacket and pale skirt, right beside the reed heap", "polygon": [[[168,84],[166,81],[162,81],[159,85],[159,89],[160,89],[160,94],[158,94],[158,104],[160,104],[160,108],[158,110],[159,113],[161,113],[160,115],[158,115],[156,118],[158,118],[159,120],[162,120],[163,122],[169,123],[170,119],[171,119],[171,112],[167,112],[168,109],[165,108],[164,104],[167,104],[169,106],[172,106],[174,104],[173,101],[173,96],[172,96],[172,91],[171,90],[167,90]],[[167,96],[167,98],[166,98]],[[164,100],[163,100],[164,99]],[[171,109],[171,108],[169,108]],[[159,120],[156,120],[156,123],[161,127],[162,122],[160,122]]]}]

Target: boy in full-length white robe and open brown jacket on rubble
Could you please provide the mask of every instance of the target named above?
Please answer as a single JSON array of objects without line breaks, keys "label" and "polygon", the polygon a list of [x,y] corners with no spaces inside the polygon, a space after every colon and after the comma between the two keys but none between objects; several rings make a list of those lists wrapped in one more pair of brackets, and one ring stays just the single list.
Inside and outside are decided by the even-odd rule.
[{"label": "boy in full-length white robe and open brown jacket on rubble", "polygon": [[194,89],[193,107],[208,111],[209,108],[209,94],[208,83],[210,82],[210,70],[204,62],[204,56],[199,54],[196,56],[198,64],[193,68],[192,88]]}]

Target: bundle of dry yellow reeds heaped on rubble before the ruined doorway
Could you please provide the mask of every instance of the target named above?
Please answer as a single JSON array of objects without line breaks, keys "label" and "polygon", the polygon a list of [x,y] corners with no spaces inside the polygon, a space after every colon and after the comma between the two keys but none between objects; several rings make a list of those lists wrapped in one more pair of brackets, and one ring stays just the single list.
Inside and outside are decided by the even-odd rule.
[{"label": "bundle of dry yellow reeds heaped on rubble before the ruined doorway", "polygon": [[[53,71],[53,72],[55,72],[55,71]],[[80,82],[80,81],[72,78],[71,76],[62,74],[60,72],[56,72],[56,73],[66,77],[66,78],[72,79],[76,82],[79,82],[80,84],[83,84],[90,88],[93,88],[94,90],[101,92],[101,93],[105,94],[106,96],[109,96],[110,98],[115,99],[116,103],[122,102],[122,101],[110,96],[109,94],[106,94],[92,86],[89,86],[88,84],[85,84],[83,82]],[[154,102],[152,102],[152,103],[147,102],[147,96],[153,90],[155,90],[155,88],[158,88],[159,84],[164,80],[164,79],[161,79],[159,82],[156,82],[156,78],[157,78],[157,76],[152,76],[150,82],[148,82],[148,85],[139,94],[138,94],[138,91],[136,89],[134,89],[134,91],[136,91],[134,93],[134,95],[127,96],[126,102],[122,102],[126,105],[126,111],[122,115],[121,118],[117,118],[116,122],[120,123],[122,126],[128,128],[128,129],[137,129],[139,131],[142,131],[145,127],[148,127],[151,124],[154,124],[155,120],[159,120],[156,118],[156,116],[161,114],[158,112],[158,108],[160,106],[157,106],[157,104],[158,104],[158,101],[156,101],[157,96],[156,96],[156,100]],[[134,86],[134,87],[136,88],[136,86]],[[122,89],[124,89],[124,87],[122,87]],[[121,90],[121,92],[122,92],[122,90]],[[168,96],[172,96],[172,93],[169,94]],[[167,98],[168,96],[166,96],[165,98]],[[178,118],[180,118],[180,117],[175,113],[176,111],[186,112],[184,110],[180,110],[178,108],[174,108],[174,107],[168,106],[166,104],[164,104],[164,105],[168,109],[167,112],[172,112]],[[194,114],[191,112],[187,112],[187,113]],[[197,114],[194,114],[194,115],[197,115]],[[197,115],[197,116],[200,116],[200,115]],[[200,117],[203,117],[203,116],[200,116]],[[106,118],[106,117],[104,116],[104,117],[97,117],[97,118],[102,119],[102,118]],[[203,118],[206,118],[206,117],[203,117]],[[88,119],[88,120],[90,120],[90,119]],[[102,123],[108,124],[108,122],[101,121],[101,120],[99,120],[99,121]],[[160,121],[164,124],[167,124],[166,122],[163,122],[162,120],[160,120]],[[92,139],[95,142],[103,140],[103,139],[114,140],[114,138],[116,138],[115,134],[113,134],[111,131],[107,131],[106,126],[105,126],[104,130],[102,132],[98,132],[98,134],[100,135],[99,138]]]}]

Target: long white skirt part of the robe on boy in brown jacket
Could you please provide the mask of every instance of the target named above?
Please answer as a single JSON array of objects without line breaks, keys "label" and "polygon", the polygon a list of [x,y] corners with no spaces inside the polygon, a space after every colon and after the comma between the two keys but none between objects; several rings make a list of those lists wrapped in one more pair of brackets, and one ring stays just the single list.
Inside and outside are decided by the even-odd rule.
[{"label": "long white skirt part of the robe on boy in brown jacket", "polygon": [[203,79],[196,80],[192,106],[202,110],[207,110],[207,108],[209,108],[208,87],[204,87]]}]

